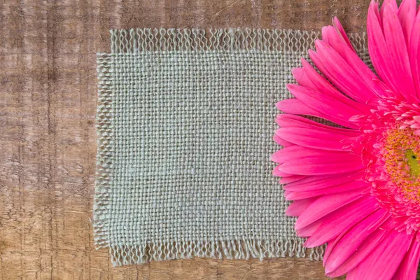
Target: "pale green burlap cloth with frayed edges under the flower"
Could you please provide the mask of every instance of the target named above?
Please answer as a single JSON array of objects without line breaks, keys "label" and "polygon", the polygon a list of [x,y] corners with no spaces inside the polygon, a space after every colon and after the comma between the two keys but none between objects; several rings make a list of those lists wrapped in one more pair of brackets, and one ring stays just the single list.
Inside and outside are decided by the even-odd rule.
[{"label": "pale green burlap cloth with frayed edges under the flower", "polygon": [[[111,31],[97,55],[94,238],[114,265],[309,255],[270,156],[275,104],[318,33]],[[351,36],[368,61],[365,36]]]}]

